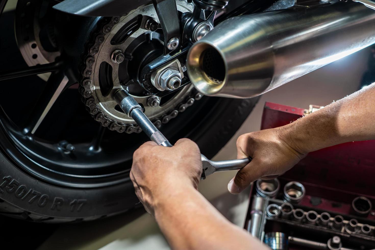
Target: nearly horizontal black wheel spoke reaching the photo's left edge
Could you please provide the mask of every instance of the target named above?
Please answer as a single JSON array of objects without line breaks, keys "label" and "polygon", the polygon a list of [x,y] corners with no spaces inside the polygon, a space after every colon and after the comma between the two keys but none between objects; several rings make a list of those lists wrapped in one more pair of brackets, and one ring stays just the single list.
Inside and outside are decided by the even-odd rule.
[{"label": "nearly horizontal black wheel spoke reaching the photo's left edge", "polygon": [[0,72],[0,81],[29,75],[38,75],[42,73],[55,72],[60,70],[62,68],[62,65],[62,61],[57,61],[53,63],[31,66],[24,69]]}]

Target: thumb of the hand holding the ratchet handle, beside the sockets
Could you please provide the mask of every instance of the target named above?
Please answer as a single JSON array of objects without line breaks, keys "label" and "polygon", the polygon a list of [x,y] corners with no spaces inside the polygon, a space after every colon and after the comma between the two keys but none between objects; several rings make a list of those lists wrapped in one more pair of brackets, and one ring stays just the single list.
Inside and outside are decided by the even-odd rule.
[{"label": "thumb of the hand holding the ratchet handle, beside the sockets", "polygon": [[262,177],[261,169],[256,160],[252,160],[245,168],[240,169],[236,176],[229,181],[228,191],[233,194],[241,193],[253,181]]}]

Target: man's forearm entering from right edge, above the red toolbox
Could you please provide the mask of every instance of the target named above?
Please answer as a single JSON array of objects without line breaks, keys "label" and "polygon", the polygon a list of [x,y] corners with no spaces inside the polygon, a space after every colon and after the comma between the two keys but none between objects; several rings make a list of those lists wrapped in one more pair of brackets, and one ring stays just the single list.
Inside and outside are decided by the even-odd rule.
[{"label": "man's forearm entering from right edge, above the red toolbox", "polygon": [[350,141],[375,139],[375,85],[284,126],[285,136],[300,153]]}]

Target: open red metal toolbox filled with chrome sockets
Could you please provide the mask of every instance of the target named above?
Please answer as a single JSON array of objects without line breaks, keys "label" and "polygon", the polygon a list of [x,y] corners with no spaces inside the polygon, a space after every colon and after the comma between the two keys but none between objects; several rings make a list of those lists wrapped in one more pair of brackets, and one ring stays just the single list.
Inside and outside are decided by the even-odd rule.
[{"label": "open red metal toolbox filled with chrome sockets", "polygon": [[[266,102],[261,129],[305,109]],[[310,153],[290,171],[251,188],[245,229],[271,249],[375,249],[375,141]]]}]

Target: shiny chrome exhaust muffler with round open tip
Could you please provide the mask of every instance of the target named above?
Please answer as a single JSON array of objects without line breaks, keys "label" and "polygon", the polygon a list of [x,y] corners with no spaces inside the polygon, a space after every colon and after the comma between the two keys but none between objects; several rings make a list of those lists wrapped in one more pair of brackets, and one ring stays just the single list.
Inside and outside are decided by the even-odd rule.
[{"label": "shiny chrome exhaust muffler with round open tip", "polygon": [[190,81],[208,96],[263,94],[375,43],[375,11],[336,3],[227,19],[187,55]]}]

